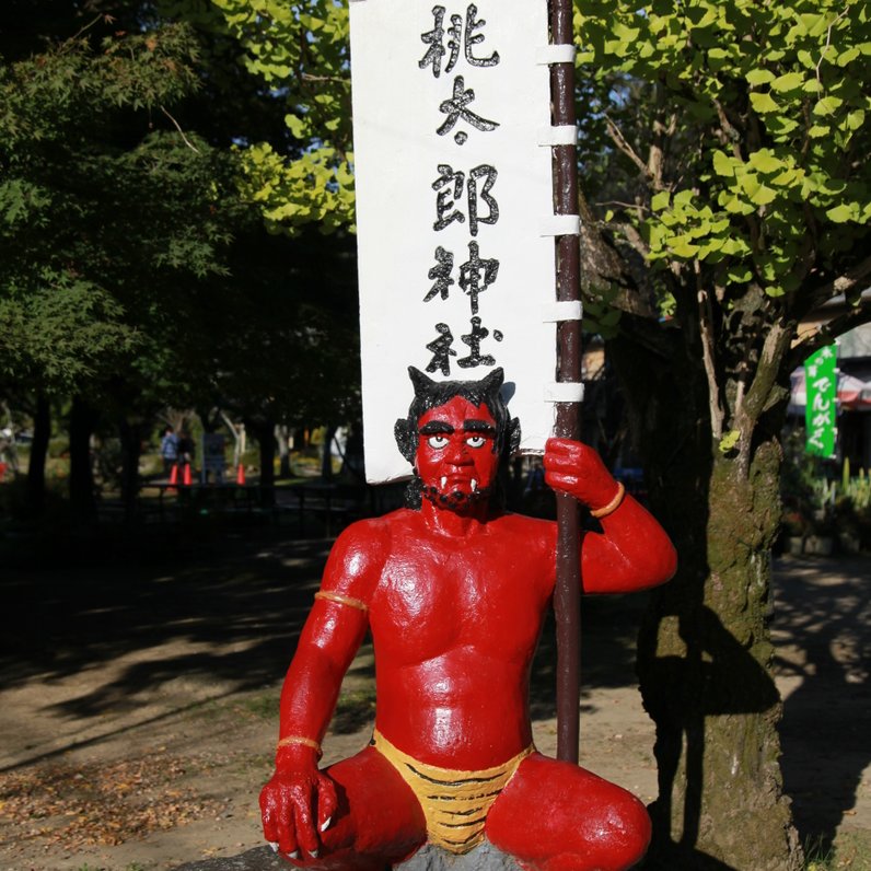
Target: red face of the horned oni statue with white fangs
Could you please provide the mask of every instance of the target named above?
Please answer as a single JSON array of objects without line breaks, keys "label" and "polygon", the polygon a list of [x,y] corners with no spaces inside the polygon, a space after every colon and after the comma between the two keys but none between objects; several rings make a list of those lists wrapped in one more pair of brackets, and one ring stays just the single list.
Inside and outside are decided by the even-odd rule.
[{"label": "red face of the horned oni statue with white fangs", "polygon": [[484,499],[496,481],[496,421],[486,405],[454,396],[418,420],[416,466],[423,495],[449,508]]}]

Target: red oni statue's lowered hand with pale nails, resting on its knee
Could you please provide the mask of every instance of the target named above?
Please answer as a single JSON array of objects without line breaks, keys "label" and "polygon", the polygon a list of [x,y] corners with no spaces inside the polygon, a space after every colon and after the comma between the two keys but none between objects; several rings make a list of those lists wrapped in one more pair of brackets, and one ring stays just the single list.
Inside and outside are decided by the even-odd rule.
[{"label": "red oni statue's lowered hand with pale nails, resting on its knee", "polygon": [[264,835],[286,858],[304,862],[318,855],[336,804],[333,780],[315,766],[276,771],[260,791]]}]

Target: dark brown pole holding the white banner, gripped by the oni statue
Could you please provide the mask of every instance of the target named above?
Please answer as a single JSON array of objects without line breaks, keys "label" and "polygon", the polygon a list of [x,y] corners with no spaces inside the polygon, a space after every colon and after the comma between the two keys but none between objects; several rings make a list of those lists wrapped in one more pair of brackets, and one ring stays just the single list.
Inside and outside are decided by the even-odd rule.
[{"label": "dark brown pole holding the white banner, gripped by the oni statue", "polygon": [[[571,45],[572,2],[550,0],[550,42]],[[574,63],[550,67],[553,124],[574,126]],[[554,148],[554,211],[578,213],[578,162],[576,147]],[[557,300],[580,298],[580,247],[576,235],[559,236],[556,243]],[[581,381],[581,323],[557,325],[557,381]],[[580,437],[580,404],[557,403],[556,433],[564,439]],[[554,612],[557,622],[557,758],[578,763],[580,739],[581,669],[581,567],[578,504],[570,496],[557,495],[557,585]]]}]

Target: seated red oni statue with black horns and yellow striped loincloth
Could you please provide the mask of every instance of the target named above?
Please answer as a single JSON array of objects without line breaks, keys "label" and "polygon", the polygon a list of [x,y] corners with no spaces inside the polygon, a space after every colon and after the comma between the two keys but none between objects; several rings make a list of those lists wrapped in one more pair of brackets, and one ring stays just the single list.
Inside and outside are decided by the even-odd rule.
[{"label": "seated red oni statue with black horns and yellow striped loincloth", "polygon": [[[529,680],[556,581],[557,527],[504,512],[497,477],[518,444],[502,371],[437,383],[410,370],[396,423],[414,464],[409,507],[338,538],[281,693],[266,839],[299,867],[382,871],[426,843],[485,837],[527,869],[618,871],[648,846],[644,806],[535,751]],[[599,518],[583,533],[587,593],[666,581],[675,551],[590,448],[550,439],[545,480]],[[324,770],[321,741],[367,631],[378,705],[370,746]]]}]

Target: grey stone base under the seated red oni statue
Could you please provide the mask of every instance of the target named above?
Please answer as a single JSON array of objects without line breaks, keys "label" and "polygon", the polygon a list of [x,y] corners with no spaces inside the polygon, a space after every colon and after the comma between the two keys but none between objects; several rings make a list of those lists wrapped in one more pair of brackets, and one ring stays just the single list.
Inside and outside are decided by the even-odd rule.
[{"label": "grey stone base under the seated red oni statue", "polygon": [[[205,859],[177,866],[174,871],[290,871],[295,866],[279,859],[268,845],[240,856]],[[425,844],[410,859],[394,866],[394,871],[521,871],[520,866],[491,844],[484,844],[465,856],[453,856]]]}]

